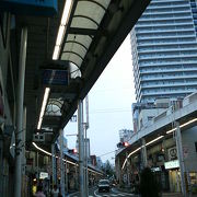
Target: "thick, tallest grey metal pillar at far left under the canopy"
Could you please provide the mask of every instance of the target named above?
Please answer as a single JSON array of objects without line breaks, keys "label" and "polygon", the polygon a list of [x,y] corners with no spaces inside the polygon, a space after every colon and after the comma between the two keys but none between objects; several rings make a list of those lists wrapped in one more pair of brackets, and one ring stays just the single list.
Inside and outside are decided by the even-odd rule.
[{"label": "thick, tallest grey metal pillar at far left under the canopy", "polygon": [[15,177],[14,197],[21,197],[22,186],[22,140],[23,140],[23,100],[24,100],[24,79],[27,45],[27,27],[22,28],[21,47],[19,59],[19,81],[18,81],[18,111],[16,111],[16,134],[15,134]]}]

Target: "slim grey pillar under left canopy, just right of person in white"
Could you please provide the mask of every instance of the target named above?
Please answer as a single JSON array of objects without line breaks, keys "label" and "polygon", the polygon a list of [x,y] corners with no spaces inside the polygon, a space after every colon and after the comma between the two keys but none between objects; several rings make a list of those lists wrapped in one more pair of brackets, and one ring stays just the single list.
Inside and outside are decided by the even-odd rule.
[{"label": "slim grey pillar under left canopy, just right of person in white", "polygon": [[63,157],[63,129],[60,129],[60,173],[61,195],[65,197],[65,157]]}]

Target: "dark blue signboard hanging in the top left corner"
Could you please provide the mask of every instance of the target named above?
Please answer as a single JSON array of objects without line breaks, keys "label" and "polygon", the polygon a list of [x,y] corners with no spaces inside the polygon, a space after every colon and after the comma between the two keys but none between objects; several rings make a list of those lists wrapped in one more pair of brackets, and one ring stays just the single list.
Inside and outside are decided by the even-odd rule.
[{"label": "dark blue signboard hanging in the top left corner", "polygon": [[0,0],[0,10],[26,15],[57,14],[57,0]]}]

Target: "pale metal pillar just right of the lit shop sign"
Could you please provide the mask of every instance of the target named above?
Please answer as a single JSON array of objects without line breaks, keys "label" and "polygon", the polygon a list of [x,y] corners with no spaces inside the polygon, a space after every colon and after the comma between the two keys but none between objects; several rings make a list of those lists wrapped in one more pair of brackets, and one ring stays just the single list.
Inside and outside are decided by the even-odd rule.
[{"label": "pale metal pillar just right of the lit shop sign", "polygon": [[185,164],[183,157],[182,135],[179,129],[179,123],[176,121],[176,149],[179,161],[181,181],[182,181],[182,193],[186,196],[186,183],[185,183]]}]

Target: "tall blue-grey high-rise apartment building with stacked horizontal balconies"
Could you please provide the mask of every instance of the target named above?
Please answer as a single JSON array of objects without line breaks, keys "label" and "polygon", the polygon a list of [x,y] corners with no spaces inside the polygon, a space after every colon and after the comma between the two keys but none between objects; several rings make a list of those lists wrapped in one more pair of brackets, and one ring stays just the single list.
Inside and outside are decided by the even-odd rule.
[{"label": "tall blue-grey high-rise apartment building with stacked horizontal balconies", "polygon": [[197,90],[197,1],[152,0],[131,31],[137,102]]}]

